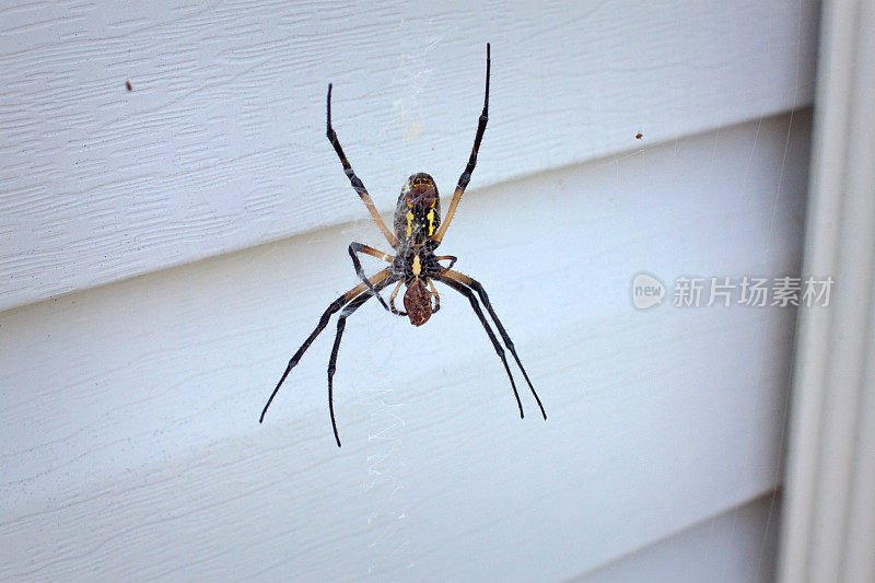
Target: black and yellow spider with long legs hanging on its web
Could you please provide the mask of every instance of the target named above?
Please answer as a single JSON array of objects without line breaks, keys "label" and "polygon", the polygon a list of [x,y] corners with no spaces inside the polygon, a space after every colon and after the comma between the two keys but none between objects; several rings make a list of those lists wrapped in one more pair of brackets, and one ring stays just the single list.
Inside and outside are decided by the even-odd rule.
[{"label": "black and yellow spider with long legs hanging on its web", "polygon": [[[520,361],[520,357],[517,355],[516,349],[511,341],[511,337],[508,335],[508,331],[504,329],[504,326],[502,326],[501,320],[499,320],[499,317],[495,315],[495,311],[492,310],[492,304],[489,302],[489,296],[487,295],[483,287],[480,285],[477,280],[451,269],[456,263],[456,257],[452,255],[434,255],[434,250],[441,244],[441,241],[443,241],[444,234],[446,234],[446,229],[450,226],[450,221],[453,220],[453,214],[456,212],[456,207],[458,207],[458,202],[462,200],[462,195],[465,193],[465,188],[468,186],[468,182],[471,178],[474,167],[477,164],[477,151],[480,148],[480,140],[483,138],[488,119],[489,66],[489,43],[487,43],[486,96],[483,97],[483,113],[480,115],[480,120],[477,125],[477,135],[474,138],[474,148],[471,148],[471,155],[468,159],[468,165],[465,166],[465,171],[462,173],[462,176],[459,176],[456,190],[453,193],[453,200],[450,202],[450,209],[446,211],[443,222],[441,221],[441,200],[438,196],[438,186],[434,184],[434,180],[431,176],[419,172],[410,176],[401,187],[401,194],[398,197],[398,202],[395,209],[393,230],[389,230],[386,226],[386,223],[384,223],[383,219],[380,217],[380,213],[374,206],[374,201],[371,199],[371,196],[368,194],[368,190],[364,188],[362,182],[358,176],[355,176],[355,172],[352,170],[352,166],[347,160],[347,155],[343,153],[343,149],[340,147],[340,141],[337,139],[337,135],[331,127],[331,84],[328,84],[328,97],[326,100],[326,136],[328,137],[328,141],[331,142],[335,152],[337,152],[337,156],[340,159],[340,163],[343,165],[343,171],[346,172],[353,190],[355,190],[359,197],[361,197],[364,206],[368,207],[368,210],[371,212],[371,217],[373,217],[377,228],[380,228],[380,230],[383,232],[383,235],[386,237],[386,241],[388,241],[389,245],[392,245],[392,248],[395,250],[395,255],[383,253],[361,243],[350,243],[349,255],[352,258],[352,266],[355,268],[355,275],[359,276],[362,282],[331,302],[325,313],[323,313],[316,329],[311,333],[306,340],[304,340],[304,343],[301,345],[298,351],[292,355],[289,364],[285,366],[285,371],[282,373],[282,376],[277,383],[276,388],[273,388],[273,393],[271,393],[270,398],[267,399],[267,404],[261,411],[259,423],[264,422],[265,413],[267,412],[268,407],[270,407],[273,397],[277,396],[277,393],[279,392],[280,386],[282,386],[282,383],[285,381],[285,377],[289,376],[289,373],[301,360],[301,357],[304,355],[304,352],[307,350],[307,348],[310,348],[310,345],[328,325],[328,320],[330,319],[331,315],[340,312],[340,316],[338,316],[337,319],[337,336],[335,336],[334,348],[331,349],[331,355],[328,360],[328,411],[331,417],[331,428],[335,433],[335,441],[337,441],[337,446],[340,447],[340,436],[337,433],[337,421],[335,420],[332,380],[337,364],[337,352],[340,348],[340,338],[343,335],[343,328],[347,325],[347,318],[359,307],[361,307],[362,304],[364,304],[368,300],[371,298],[376,298],[381,305],[386,308],[386,311],[398,316],[407,316],[410,318],[410,324],[413,326],[422,326],[429,320],[432,314],[436,313],[441,308],[441,298],[438,294],[438,290],[434,288],[434,281],[444,283],[448,288],[467,298],[468,302],[470,302],[471,308],[474,308],[475,314],[477,314],[477,317],[480,319],[480,324],[483,325],[487,336],[489,336],[492,347],[495,349],[495,352],[501,359],[504,370],[508,373],[508,377],[511,380],[511,388],[513,388],[514,397],[516,397],[516,405],[520,408],[520,418],[522,419],[523,404],[520,400],[520,393],[516,390],[516,383],[514,383],[511,369],[508,365],[508,359],[505,358],[504,349],[501,347],[501,343],[495,337],[494,331],[492,331],[489,322],[483,315],[483,311],[480,308],[480,304],[477,301],[478,298],[480,299],[480,302],[482,302],[487,312],[489,312],[489,315],[492,317],[492,322],[494,322],[499,335],[501,335],[502,340],[504,340],[504,346],[511,352],[516,361],[516,364],[520,366],[520,370],[523,372],[523,376],[525,377],[532,394],[535,396],[535,400],[538,403],[538,407],[540,408],[544,419],[547,419],[547,413],[544,411],[544,406],[540,403],[540,398],[538,398],[538,394],[535,392],[535,387],[532,385],[532,381],[529,381],[528,374],[523,368],[523,363]],[[369,278],[364,275],[364,270],[362,269],[359,260],[359,254],[371,255],[377,259],[383,259],[384,261],[388,263],[389,266]],[[448,265],[443,266],[440,261],[448,261]],[[395,289],[392,291],[392,294],[389,295],[389,302],[387,304],[380,292],[393,283],[395,283]],[[401,285],[406,287],[404,294],[404,310],[398,310],[395,307],[395,299],[397,298]],[[433,306],[432,299],[434,300]]]}]

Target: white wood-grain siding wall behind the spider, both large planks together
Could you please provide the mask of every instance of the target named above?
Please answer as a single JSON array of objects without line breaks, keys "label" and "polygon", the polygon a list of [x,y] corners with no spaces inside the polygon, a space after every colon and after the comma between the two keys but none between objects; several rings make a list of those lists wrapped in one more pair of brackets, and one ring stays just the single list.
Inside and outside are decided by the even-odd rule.
[{"label": "white wood-grain siding wall behind the spider, both large planks together", "polygon": [[[798,271],[814,3],[58,7],[0,34],[0,578],[557,580],[774,489],[794,313],[629,284]],[[348,243],[384,247],[326,83],[382,210],[416,170],[447,196],[486,40],[442,248],[549,419],[446,290],[350,319],[342,450],[334,326],[259,427]]]}]

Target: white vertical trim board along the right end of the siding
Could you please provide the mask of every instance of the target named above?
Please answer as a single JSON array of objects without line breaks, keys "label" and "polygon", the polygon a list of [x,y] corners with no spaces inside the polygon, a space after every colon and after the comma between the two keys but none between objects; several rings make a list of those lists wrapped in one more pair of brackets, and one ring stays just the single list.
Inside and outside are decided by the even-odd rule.
[{"label": "white vertical trim board along the right end of the siding", "polygon": [[781,581],[875,573],[875,2],[824,7],[805,269],[836,279],[800,314]]}]

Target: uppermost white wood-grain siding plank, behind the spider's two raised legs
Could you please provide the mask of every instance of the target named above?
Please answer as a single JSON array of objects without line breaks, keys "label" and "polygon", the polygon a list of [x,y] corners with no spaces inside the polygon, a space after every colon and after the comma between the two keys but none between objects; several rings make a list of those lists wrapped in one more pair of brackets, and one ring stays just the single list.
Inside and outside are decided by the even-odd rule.
[{"label": "uppermost white wood-grain siding plank, behind the spider's two raised legs", "polygon": [[[0,25],[0,310],[812,100],[814,0],[18,2]],[[126,83],[129,82],[131,91]]]}]

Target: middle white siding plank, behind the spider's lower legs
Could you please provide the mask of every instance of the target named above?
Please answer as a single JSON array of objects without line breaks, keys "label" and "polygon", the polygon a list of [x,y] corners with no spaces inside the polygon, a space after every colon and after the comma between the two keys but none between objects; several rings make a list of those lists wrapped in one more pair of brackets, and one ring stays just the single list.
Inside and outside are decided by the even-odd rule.
[{"label": "middle white siding plank, behind the spider's lower legs", "polygon": [[[0,579],[558,580],[771,491],[795,313],[631,306],[641,270],[795,273],[809,113],[466,199],[477,277],[547,408],[521,420],[467,302],[413,328],[348,223],[0,314]],[[376,269],[378,261],[368,264]]]}]

